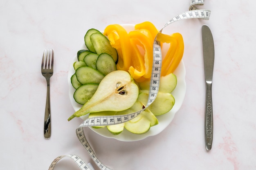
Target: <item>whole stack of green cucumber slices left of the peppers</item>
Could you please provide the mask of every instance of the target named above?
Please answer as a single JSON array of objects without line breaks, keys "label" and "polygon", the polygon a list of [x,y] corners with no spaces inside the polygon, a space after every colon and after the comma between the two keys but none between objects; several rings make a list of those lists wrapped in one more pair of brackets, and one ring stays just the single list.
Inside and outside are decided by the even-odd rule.
[{"label": "whole stack of green cucumber slices left of the peppers", "polygon": [[108,73],[117,70],[117,50],[110,45],[108,38],[92,28],[84,36],[88,50],[79,50],[74,62],[75,74],[70,78],[76,89],[74,100],[84,105],[94,94],[101,80]]}]

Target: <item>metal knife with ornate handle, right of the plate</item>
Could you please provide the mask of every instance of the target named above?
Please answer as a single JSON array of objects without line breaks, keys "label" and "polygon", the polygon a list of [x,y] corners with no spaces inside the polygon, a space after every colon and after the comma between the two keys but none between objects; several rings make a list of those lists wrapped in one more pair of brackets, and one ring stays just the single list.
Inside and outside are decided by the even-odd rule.
[{"label": "metal knife with ornate handle, right of the plate", "polygon": [[211,30],[207,25],[202,26],[202,43],[204,55],[204,78],[206,83],[205,102],[205,145],[207,150],[211,150],[213,141],[213,110],[212,110],[212,77],[214,64],[214,43]]}]

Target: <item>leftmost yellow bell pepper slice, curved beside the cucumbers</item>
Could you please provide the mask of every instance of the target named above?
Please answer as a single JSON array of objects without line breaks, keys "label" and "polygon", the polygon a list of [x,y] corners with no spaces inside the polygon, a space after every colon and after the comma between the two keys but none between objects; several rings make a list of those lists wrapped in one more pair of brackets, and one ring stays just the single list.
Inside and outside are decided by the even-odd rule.
[{"label": "leftmost yellow bell pepper slice, curved beside the cucumbers", "polygon": [[103,35],[106,35],[107,37],[110,36],[108,37],[110,44],[117,50],[117,70],[128,71],[131,64],[132,47],[126,30],[119,24],[112,24],[105,28]]}]

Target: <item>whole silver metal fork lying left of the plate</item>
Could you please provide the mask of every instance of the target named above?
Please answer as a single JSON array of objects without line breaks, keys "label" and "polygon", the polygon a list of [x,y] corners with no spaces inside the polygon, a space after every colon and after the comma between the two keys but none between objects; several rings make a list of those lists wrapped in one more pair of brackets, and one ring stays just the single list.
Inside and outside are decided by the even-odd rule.
[{"label": "whole silver metal fork lying left of the plate", "polygon": [[45,122],[44,122],[44,136],[46,139],[51,137],[51,107],[50,107],[50,77],[53,74],[53,50],[45,50],[43,53],[42,75],[47,82],[47,97],[45,106]]}]

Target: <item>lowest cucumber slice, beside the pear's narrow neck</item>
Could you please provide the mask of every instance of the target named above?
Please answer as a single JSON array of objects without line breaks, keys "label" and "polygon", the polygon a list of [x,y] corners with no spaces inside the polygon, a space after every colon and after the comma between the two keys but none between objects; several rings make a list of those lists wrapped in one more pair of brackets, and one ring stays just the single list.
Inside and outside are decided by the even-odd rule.
[{"label": "lowest cucumber slice, beside the pear's narrow neck", "polygon": [[74,99],[77,103],[84,105],[96,92],[99,84],[81,85],[74,92]]}]

